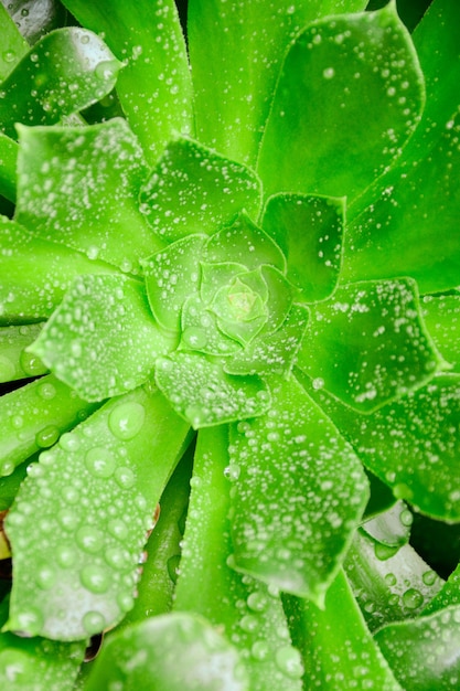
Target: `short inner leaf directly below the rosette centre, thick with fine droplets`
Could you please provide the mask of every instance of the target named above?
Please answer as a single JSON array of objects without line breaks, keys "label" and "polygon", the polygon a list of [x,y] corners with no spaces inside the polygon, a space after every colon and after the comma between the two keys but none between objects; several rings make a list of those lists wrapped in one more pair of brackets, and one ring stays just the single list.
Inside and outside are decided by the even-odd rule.
[{"label": "short inner leaf directly below the rosette centre, thick with fine droplets", "polygon": [[270,394],[258,376],[233,376],[204,355],[174,352],[159,358],[156,382],[194,429],[266,413]]}]

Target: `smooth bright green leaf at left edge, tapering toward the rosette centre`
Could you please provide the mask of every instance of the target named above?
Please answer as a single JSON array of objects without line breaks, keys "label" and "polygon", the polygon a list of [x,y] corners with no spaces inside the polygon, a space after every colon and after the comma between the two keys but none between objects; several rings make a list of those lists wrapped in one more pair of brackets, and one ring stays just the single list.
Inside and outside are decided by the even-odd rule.
[{"label": "smooth bright green leaf at left edge, tapering toward the rosette centre", "polygon": [[115,272],[110,264],[34,237],[19,223],[0,216],[0,323],[47,319],[74,278]]}]

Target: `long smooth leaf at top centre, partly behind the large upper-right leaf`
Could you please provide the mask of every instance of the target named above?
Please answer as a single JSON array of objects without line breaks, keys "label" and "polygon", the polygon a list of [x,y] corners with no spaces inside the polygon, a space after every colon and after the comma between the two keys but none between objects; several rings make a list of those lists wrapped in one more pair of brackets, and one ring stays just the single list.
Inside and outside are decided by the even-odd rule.
[{"label": "long smooth leaf at top centre, partly behind the large upper-right leaf", "polygon": [[[188,34],[200,139],[255,164],[286,50],[309,22],[366,0],[191,0]],[[203,35],[206,41],[203,41]]]}]

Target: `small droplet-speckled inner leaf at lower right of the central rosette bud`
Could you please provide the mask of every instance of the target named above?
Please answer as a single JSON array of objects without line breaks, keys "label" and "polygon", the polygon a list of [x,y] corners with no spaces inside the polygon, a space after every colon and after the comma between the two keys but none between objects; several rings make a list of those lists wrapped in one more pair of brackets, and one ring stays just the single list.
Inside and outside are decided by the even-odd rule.
[{"label": "small droplet-speckled inner leaf at lower right of the central rosette bud", "polygon": [[282,327],[275,333],[259,334],[244,350],[224,364],[228,374],[284,374],[290,372],[299,351],[308,320],[308,311],[293,305]]}]

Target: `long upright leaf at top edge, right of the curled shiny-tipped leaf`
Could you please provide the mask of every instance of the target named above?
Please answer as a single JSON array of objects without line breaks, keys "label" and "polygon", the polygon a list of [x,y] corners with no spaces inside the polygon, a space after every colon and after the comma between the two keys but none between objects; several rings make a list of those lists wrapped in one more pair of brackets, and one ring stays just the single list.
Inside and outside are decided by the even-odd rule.
[{"label": "long upright leaf at top edge, right of the curled shiny-tipped leaf", "polygon": [[117,93],[150,163],[178,132],[193,129],[185,43],[173,0],[65,0],[88,29],[103,32],[125,66]]}]

